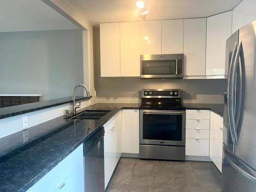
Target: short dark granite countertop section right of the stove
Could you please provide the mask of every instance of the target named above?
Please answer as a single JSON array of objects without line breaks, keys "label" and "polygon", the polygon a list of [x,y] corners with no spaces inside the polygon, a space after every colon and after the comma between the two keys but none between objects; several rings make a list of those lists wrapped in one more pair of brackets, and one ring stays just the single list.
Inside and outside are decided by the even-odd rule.
[{"label": "short dark granite countertop section right of the stove", "polygon": [[187,110],[210,110],[223,117],[224,104],[183,103]]}]

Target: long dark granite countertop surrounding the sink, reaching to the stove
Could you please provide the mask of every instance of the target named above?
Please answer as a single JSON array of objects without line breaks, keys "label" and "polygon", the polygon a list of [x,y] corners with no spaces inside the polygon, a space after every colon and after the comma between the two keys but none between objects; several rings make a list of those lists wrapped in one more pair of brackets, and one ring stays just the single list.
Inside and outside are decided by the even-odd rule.
[{"label": "long dark granite countertop surrounding the sink, reaching to the stove", "polygon": [[[38,139],[0,157],[0,191],[26,191],[62,159],[88,140],[121,109],[138,109],[139,103],[97,103],[83,110],[111,112],[98,120],[71,120],[63,116],[31,127],[46,130]],[[51,130],[49,130],[51,127]],[[29,133],[30,135],[30,133]],[[10,136],[7,136],[11,138]]]}]

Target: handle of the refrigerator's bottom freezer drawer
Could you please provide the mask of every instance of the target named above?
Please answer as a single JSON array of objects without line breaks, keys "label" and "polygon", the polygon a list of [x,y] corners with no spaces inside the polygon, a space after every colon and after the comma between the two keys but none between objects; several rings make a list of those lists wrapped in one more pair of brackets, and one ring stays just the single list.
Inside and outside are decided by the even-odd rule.
[{"label": "handle of the refrigerator's bottom freezer drawer", "polygon": [[[247,179],[251,180],[252,182],[256,183],[256,173],[254,170],[252,170],[250,167],[248,167],[245,163],[243,163],[241,160],[237,159],[237,157],[233,156],[233,159],[237,159],[236,163],[233,162],[229,156],[229,154],[224,150],[225,158],[228,161],[228,163],[235,169],[237,172],[245,176]],[[247,169],[247,172],[241,168]],[[249,173],[248,173],[249,172]]]}]

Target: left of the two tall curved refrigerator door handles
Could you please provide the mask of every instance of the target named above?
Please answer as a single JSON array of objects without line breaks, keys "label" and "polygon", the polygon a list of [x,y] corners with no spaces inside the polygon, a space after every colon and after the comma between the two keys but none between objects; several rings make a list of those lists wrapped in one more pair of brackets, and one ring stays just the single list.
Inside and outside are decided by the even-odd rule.
[{"label": "left of the two tall curved refrigerator door handles", "polygon": [[[239,42],[238,45],[238,49],[237,49],[237,54],[236,57],[234,57],[234,64],[233,64],[233,71],[232,71],[232,75],[231,75],[231,127],[233,129],[233,135],[234,135],[234,141],[236,141],[236,143],[238,144],[238,133],[237,133],[237,123],[235,121],[236,119],[236,76],[238,73],[238,62],[239,62],[239,58],[240,58],[240,54],[241,54],[241,50],[242,50],[242,41]],[[239,101],[240,102],[240,101]],[[241,101],[242,102],[242,101]]]}]

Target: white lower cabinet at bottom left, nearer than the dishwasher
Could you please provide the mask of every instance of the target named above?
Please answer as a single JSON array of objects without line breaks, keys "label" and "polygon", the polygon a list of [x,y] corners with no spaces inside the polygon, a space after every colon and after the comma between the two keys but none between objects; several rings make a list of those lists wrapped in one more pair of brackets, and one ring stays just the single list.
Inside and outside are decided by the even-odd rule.
[{"label": "white lower cabinet at bottom left, nearer than the dishwasher", "polygon": [[83,145],[81,144],[42,177],[28,192],[84,191]]}]

